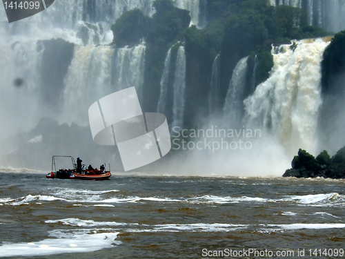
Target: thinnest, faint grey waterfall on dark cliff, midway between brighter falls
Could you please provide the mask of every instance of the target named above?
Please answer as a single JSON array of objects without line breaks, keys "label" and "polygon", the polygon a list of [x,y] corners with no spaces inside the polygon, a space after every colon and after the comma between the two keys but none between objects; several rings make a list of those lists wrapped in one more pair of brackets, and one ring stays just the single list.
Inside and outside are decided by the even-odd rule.
[{"label": "thinnest, faint grey waterfall on dark cliff, midway between brighter falls", "polygon": [[219,105],[219,54],[215,57],[212,66],[210,95],[208,97],[208,106],[210,115],[217,110]]}]

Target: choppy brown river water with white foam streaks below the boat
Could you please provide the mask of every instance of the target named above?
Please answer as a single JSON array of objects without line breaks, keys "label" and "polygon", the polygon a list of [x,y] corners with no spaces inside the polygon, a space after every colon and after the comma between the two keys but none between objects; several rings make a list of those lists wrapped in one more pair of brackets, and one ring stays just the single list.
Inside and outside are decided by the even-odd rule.
[{"label": "choppy brown river water with white foam streaks below the boat", "polygon": [[0,179],[0,256],[201,258],[202,249],[345,248],[344,180]]}]

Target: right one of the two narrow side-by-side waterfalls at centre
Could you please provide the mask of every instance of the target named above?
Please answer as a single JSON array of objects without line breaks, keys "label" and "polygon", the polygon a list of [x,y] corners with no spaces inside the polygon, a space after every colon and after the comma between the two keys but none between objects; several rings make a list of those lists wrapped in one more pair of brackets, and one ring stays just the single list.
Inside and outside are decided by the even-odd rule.
[{"label": "right one of the two narrow side-by-side waterfalls at centre", "polygon": [[186,55],[184,46],[177,51],[176,71],[174,79],[174,100],[172,103],[172,127],[184,126],[184,90],[186,88]]}]

